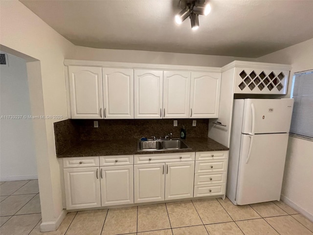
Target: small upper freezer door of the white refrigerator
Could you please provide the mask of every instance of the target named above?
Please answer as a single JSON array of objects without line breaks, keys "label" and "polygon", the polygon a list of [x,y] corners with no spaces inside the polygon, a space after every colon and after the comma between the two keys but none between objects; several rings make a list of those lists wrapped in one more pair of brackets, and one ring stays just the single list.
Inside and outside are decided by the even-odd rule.
[{"label": "small upper freezer door of the white refrigerator", "polygon": [[245,99],[242,133],[288,133],[293,99]]}]

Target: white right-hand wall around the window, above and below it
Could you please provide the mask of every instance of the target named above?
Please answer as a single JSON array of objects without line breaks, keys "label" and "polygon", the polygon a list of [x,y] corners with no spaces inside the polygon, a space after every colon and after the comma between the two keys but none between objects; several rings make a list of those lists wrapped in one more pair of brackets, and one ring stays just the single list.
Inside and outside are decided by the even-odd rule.
[{"label": "white right-hand wall around the window, above and below it", "polygon": [[[258,58],[260,62],[290,64],[294,72],[313,69],[313,39]],[[291,81],[287,97],[290,97]],[[313,141],[290,137],[282,200],[313,221]]]}]

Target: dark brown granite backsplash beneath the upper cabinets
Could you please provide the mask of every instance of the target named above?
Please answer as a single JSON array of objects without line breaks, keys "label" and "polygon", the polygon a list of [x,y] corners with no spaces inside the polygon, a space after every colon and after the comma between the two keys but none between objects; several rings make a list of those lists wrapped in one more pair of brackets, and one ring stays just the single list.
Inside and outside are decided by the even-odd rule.
[{"label": "dark brown granite backsplash beneath the upper cabinets", "polygon": [[179,138],[180,128],[185,126],[188,138],[207,137],[209,119],[197,119],[197,126],[192,126],[192,119],[97,119],[99,127],[93,127],[93,119],[67,119],[54,123],[57,154],[62,153],[79,141],[123,140],[149,138],[173,133]]}]

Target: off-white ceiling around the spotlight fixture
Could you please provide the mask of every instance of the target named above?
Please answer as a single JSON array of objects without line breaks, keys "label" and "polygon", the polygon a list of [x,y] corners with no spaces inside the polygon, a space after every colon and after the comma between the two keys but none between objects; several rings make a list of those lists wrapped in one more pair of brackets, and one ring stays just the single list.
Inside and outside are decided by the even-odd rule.
[{"label": "off-white ceiling around the spotlight fixture", "polygon": [[175,23],[178,0],[21,2],[84,47],[257,58],[313,38],[313,0],[210,0],[198,30]]}]

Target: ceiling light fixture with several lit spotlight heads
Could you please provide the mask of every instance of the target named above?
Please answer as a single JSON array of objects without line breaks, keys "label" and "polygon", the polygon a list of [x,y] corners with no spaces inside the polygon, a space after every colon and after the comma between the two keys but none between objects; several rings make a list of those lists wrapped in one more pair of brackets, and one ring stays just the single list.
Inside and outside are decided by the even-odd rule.
[{"label": "ceiling light fixture with several lit spotlight heads", "polygon": [[199,15],[207,16],[211,11],[210,4],[205,4],[205,0],[180,0],[179,5],[182,11],[175,16],[175,22],[181,24],[189,16],[193,30],[199,28]]}]

